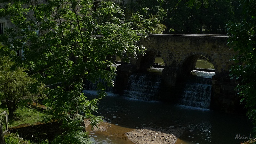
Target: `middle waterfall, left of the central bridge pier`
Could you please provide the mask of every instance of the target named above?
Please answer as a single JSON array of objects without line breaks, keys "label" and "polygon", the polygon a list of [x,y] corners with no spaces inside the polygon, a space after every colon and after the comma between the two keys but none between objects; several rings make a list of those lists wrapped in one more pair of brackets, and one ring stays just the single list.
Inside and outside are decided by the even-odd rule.
[{"label": "middle waterfall, left of the central bridge pier", "polygon": [[138,100],[157,100],[160,83],[159,75],[131,75],[124,96]]}]

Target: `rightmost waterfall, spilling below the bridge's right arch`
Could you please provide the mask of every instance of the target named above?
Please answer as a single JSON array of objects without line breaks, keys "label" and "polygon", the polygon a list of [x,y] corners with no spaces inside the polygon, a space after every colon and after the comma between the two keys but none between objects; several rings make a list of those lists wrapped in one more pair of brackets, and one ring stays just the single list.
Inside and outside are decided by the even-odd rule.
[{"label": "rightmost waterfall, spilling below the bridge's right arch", "polygon": [[191,77],[185,85],[181,95],[180,104],[196,107],[210,108],[212,79]]}]

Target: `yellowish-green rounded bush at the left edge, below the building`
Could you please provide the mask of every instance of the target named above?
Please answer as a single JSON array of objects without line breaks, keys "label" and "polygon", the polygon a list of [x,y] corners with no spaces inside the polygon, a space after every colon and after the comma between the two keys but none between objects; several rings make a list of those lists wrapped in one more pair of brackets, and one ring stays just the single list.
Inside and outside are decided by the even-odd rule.
[{"label": "yellowish-green rounded bush at the left edge, below the building", "polygon": [[[21,105],[35,99],[42,86],[28,76],[24,68],[15,67],[15,62],[0,52],[0,98],[6,100],[9,116]],[[33,88],[32,88],[33,87]]]}]

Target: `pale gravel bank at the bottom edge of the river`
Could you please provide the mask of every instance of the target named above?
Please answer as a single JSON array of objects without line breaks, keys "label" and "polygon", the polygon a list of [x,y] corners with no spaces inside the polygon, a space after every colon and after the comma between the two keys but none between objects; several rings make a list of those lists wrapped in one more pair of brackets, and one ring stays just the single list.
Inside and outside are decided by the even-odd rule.
[{"label": "pale gravel bank at the bottom edge of the river", "polygon": [[[90,128],[90,120],[85,120],[85,126]],[[118,128],[106,126],[106,124],[98,125],[98,128],[94,128],[93,131],[105,132],[111,131],[112,133],[118,133]],[[174,144],[178,137],[183,133],[181,129],[175,128],[158,128],[158,127],[144,127],[141,129],[130,129],[129,132],[119,132],[124,133],[122,139],[130,140],[131,143],[135,144]]]}]

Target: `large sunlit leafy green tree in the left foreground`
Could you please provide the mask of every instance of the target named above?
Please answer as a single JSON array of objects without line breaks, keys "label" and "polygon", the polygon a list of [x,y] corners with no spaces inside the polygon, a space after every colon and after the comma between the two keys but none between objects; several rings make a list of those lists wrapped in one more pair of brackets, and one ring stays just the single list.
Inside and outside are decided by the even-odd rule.
[{"label": "large sunlit leafy green tree in the left foreground", "polygon": [[[101,117],[92,114],[99,99],[87,100],[83,82],[100,77],[113,86],[112,57],[128,60],[143,54],[144,47],[137,43],[150,31],[143,27],[150,21],[139,13],[125,19],[122,9],[105,0],[19,0],[1,9],[1,16],[9,16],[16,26],[5,30],[2,44],[22,48],[22,65],[51,87],[45,104],[66,130],[55,142],[87,143],[84,117],[92,119],[92,127]],[[135,27],[137,23],[143,25]],[[100,98],[106,95],[104,90],[98,83]]]}]

